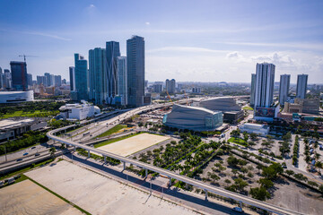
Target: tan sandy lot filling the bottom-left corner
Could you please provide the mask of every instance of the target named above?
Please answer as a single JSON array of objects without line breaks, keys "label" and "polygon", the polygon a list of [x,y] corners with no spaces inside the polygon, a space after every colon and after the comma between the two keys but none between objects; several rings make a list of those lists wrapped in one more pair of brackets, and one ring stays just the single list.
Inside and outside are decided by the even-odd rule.
[{"label": "tan sandy lot filling the bottom-left corner", "polygon": [[52,193],[24,180],[0,190],[0,214],[83,214]]}]

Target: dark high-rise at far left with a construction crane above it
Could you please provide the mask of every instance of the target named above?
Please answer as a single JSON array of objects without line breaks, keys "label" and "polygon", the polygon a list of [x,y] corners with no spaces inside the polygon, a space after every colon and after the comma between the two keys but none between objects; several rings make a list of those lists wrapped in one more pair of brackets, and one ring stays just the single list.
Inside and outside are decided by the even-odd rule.
[{"label": "dark high-rise at far left with a construction crane above it", "polygon": [[14,90],[28,90],[26,62],[10,62]]}]

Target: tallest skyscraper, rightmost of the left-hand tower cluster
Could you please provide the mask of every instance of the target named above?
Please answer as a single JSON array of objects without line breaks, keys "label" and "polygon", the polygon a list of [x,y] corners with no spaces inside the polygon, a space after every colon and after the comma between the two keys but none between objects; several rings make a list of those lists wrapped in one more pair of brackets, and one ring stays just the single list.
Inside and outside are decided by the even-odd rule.
[{"label": "tallest skyscraper, rightmost of the left-hand tower cluster", "polygon": [[127,39],[128,105],[144,105],[144,38]]}]

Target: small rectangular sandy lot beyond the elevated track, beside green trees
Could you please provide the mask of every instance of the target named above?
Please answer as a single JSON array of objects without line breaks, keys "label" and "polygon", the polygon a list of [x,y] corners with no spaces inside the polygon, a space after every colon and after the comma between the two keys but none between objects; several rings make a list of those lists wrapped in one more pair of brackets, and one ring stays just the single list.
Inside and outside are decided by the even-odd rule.
[{"label": "small rectangular sandy lot beyond the elevated track, beside green trees", "polygon": [[101,146],[98,149],[109,151],[121,156],[128,156],[139,150],[144,150],[149,146],[152,146],[158,142],[166,141],[168,139],[169,137],[165,136],[150,133],[141,133],[119,142],[113,142],[111,144]]}]

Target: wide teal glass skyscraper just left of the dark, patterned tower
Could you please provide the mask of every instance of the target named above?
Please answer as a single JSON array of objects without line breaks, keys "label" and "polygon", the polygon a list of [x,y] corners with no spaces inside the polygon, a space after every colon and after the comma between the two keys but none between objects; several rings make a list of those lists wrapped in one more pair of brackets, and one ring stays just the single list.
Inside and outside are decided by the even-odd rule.
[{"label": "wide teal glass skyscraper just left of the dark, patterned tower", "polygon": [[105,73],[106,50],[96,47],[89,50],[89,99],[103,104],[107,99],[107,73]]}]

